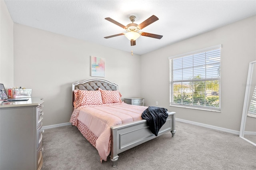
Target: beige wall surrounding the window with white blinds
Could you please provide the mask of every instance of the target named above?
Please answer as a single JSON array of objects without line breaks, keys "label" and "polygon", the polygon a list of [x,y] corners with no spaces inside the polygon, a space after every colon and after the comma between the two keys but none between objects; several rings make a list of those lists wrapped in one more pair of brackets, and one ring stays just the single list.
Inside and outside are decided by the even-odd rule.
[{"label": "beige wall surrounding the window with white blinds", "polygon": [[[222,44],[221,112],[169,106],[168,57]],[[256,16],[141,56],[141,94],[146,105],[166,107],[176,118],[240,130],[249,62],[256,60]],[[148,67],[151,65],[151,67]],[[150,93],[149,93],[150,92]]]}]

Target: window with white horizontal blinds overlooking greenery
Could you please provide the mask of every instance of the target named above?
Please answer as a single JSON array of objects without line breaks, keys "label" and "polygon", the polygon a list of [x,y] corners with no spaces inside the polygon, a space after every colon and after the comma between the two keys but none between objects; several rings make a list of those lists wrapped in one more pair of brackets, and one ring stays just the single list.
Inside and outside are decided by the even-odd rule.
[{"label": "window with white horizontal blinds overlooking greenery", "polygon": [[220,49],[169,57],[171,106],[220,111]]}]

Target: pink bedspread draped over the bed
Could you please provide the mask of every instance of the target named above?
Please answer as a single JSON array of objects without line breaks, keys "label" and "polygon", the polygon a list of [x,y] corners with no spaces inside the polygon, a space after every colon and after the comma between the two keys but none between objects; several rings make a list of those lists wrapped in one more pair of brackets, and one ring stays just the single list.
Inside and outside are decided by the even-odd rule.
[{"label": "pink bedspread draped over the bed", "polygon": [[88,127],[97,137],[96,149],[102,160],[107,160],[110,154],[110,127],[142,120],[141,114],[146,106],[112,103],[97,106],[80,106],[74,109],[70,122],[77,126],[78,120]]}]

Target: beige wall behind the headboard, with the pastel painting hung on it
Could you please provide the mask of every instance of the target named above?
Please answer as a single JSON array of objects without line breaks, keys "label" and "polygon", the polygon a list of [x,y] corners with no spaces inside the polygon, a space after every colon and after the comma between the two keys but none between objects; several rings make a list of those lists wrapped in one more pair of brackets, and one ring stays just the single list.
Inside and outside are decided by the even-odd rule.
[{"label": "beige wall behind the headboard, with the pastel painting hung on it", "polygon": [[14,85],[44,98],[44,126],[69,122],[72,83],[97,78],[90,77],[91,55],[105,58],[104,78],[119,85],[122,99],[140,96],[132,86],[140,87],[139,55],[14,24]]}]

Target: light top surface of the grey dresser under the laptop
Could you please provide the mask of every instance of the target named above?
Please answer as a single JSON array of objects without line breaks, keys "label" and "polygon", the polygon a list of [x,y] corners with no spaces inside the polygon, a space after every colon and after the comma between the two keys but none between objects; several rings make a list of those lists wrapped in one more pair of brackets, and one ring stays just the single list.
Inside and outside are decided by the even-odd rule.
[{"label": "light top surface of the grey dresser under the laptop", "polygon": [[42,97],[30,97],[27,101],[10,101],[10,102],[4,101],[0,104],[0,109],[8,109],[13,107],[40,106],[44,103],[42,99],[43,99]]}]

